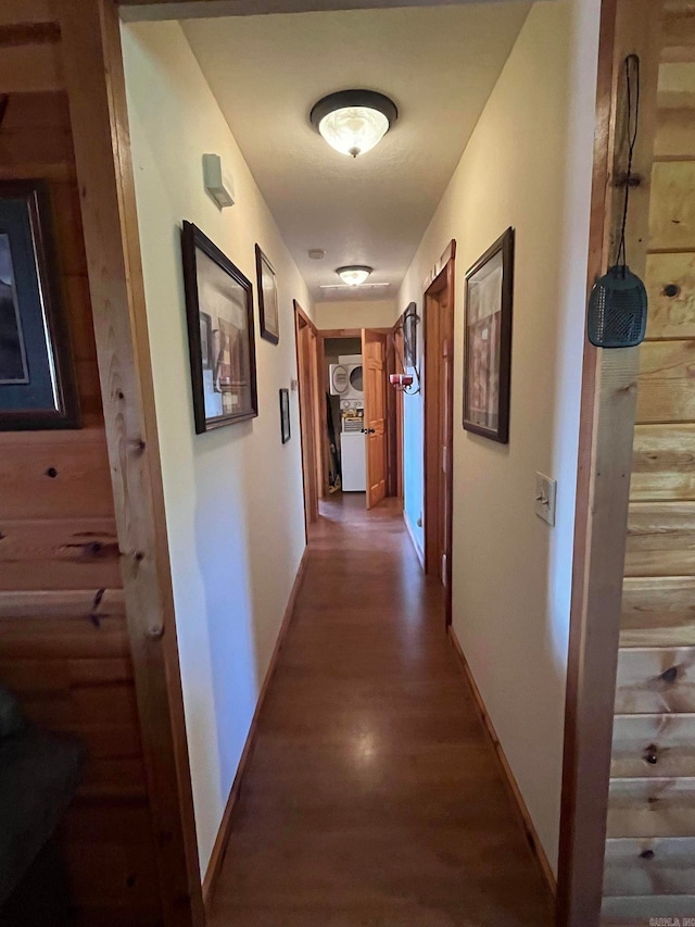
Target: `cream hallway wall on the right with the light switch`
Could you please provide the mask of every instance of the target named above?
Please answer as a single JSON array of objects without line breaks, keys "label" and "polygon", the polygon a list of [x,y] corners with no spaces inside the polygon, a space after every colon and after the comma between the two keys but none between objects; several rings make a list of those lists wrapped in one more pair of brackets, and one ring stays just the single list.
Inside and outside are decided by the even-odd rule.
[{"label": "cream hallway wall on the right with the light switch", "polygon": [[[453,622],[545,852],[555,866],[598,0],[529,13],[399,295],[455,238]],[[516,227],[509,444],[464,431],[465,273]],[[405,399],[405,508],[422,509],[421,402]],[[558,479],[557,523],[534,514],[534,475]]]}]

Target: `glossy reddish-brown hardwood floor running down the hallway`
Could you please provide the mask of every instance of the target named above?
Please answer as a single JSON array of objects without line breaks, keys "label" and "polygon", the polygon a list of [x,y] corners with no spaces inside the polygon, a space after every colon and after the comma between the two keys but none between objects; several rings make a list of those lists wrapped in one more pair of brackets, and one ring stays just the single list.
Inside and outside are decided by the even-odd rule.
[{"label": "glossy reddish-brown hardwood floor running down the hallway", "polygon": [[323,506],[212,927],[516,927],[551,901],[400,513]]}]

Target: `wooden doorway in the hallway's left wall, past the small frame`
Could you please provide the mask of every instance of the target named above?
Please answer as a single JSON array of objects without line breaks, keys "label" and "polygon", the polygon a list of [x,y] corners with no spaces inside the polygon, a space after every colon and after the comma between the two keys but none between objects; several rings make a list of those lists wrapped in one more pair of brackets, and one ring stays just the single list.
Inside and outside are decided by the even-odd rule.
[{"label": "wooden doorway in the hallway's left wall, past the small frame", "polygon": [[300,400],[300,435],[302,441],[302,478],[304,484],[304,523],[318,519],[318,475],[316,469],[316,334],[299,303],[294,303],[296,338],[296,373]]}]

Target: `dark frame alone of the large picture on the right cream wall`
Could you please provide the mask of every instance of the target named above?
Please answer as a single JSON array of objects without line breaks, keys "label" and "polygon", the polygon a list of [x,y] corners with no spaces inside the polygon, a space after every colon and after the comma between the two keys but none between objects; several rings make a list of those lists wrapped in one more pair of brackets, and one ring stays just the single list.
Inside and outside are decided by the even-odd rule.
[{"label": "dark frame alone of the large picture on the right cream wall", "polygon": [[[483,438],[489,438],[491,441],[497,441],[500,444],[509,442],[509,399],[511,389],[511,325],[514,316],[514,228],[507,228],[500,238],[491,245],[485,253],[479,258],[472,267],[466,273],[466,308],[464,312],[464,409],[463,424],[466,431],[472,431],[476,435],[481,435]],[[477,422],[471,422],[466,418],[466,410],[468,409],[468,371],[471,367],[471,362],[468,356],[470,348],[468,338],[468,305],[469,305],[469,287],[471,278],[485,264],[491,261],[496,254],[502,252],[502,302],[501,302],[501,320],[500,320],[500,406],[497,410],[497,427],[489,428],[485,425],[480,425]]]}]

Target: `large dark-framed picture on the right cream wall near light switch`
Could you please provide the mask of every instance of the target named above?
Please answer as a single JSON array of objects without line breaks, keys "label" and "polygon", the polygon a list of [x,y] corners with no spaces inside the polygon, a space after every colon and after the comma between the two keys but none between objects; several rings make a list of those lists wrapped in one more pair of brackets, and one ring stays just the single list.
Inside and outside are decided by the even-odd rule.
[{"label": "large dark-framed picture on the right cream wall near light switch", "polygon": [[466,274],[464,428],[509,442],[514,229]]}]

